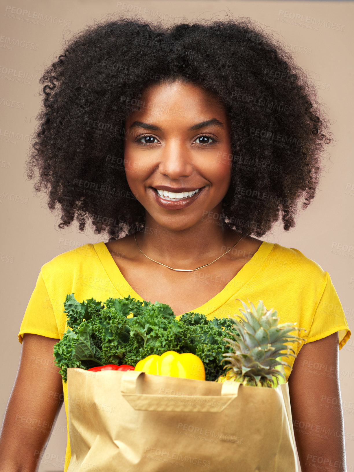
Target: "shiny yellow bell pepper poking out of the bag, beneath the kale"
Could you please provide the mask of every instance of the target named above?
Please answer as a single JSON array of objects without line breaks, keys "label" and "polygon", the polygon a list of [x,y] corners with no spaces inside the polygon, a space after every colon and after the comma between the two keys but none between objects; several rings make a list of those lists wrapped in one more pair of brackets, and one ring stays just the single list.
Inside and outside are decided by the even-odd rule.
[{"label": "shiny yellow bell pepper poking out of the bag, beneath the kale", "polygon": [[192,353],[178,354],[175,351],[167,351],[161,355],[152,354],[139,361],[134,370],[154,375],[205,380],[204,365],[201,359]]}]

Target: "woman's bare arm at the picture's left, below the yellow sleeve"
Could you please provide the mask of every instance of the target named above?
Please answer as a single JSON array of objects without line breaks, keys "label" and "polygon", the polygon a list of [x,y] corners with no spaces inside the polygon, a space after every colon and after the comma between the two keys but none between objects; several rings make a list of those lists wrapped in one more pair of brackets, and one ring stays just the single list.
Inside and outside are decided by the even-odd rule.
[{"label": "woman's bare arm at the picture's left, below the yellow sleeve", "polygon": [[63,403],[56,338],[25,333],[0,433],[0,472],[33,472]]}]

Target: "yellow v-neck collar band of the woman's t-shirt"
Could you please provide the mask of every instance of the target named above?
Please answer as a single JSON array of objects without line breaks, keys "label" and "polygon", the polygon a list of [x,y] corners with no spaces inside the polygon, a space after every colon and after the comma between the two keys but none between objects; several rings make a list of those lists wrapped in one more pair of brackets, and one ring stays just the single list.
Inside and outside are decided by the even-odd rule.
[{"label": "yellow v-neck collar band of the woman's t-shirt", "polygon": [[[205,316],[208,316],[220,306],[225,304],[233,295],[238,292],[238,290],[244,287],[244,285],[246,285],[251,280],[258,270],[261,269],[274,246],[275,243],[262,241],[262,244],[253,254],[252,258],[244,264],[242,269],[237,272],[235,277],[232,278],[218,294],[214,295],[202,306],[194,308],[191,311],[203,313]],[[106,271],[110,281],[112,282],[112,285],[115,287],[118,294],[121,295],[122,298],[130,295],[137,300],[143,301],[143,298],[137,294],[132,287],[130,287],[126,279],[123,277],[123,274],[119,270],[118,265],[114,261],[104,241],[93,244],[93,249],[95,250],[99,260],[101,261],[103,269]],[[181,315],[177,315],[176,318],[179,316]]]}]

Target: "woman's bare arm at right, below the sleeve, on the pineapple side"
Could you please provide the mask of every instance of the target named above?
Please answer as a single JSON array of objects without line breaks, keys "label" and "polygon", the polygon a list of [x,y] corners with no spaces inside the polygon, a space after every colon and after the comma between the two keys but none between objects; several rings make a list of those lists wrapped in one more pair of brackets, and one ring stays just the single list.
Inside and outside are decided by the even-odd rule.
[{"label": "woman's bare arm at right, below the sleeve, on the pineapple side", "polygon": [[346,472],[338,332],[302,346],[288,384],[302,472]]}]

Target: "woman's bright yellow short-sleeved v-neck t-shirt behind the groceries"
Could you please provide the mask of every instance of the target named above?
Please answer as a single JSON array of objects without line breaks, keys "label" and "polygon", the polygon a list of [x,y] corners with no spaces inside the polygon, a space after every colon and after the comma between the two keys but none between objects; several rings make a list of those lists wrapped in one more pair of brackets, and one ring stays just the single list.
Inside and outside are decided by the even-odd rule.
[{"label": "woman's bright yellow short-sleeved v-neck t-shirt behind the groceries", "polygon": [[[119,265],[119,263],[118,263]],[[208,278],[206,272],[189,274],[196,289],[198,284],[222,283],[222,275]],[[77,301],[94,298],[105,302],[108,298],[128,295],[143,301],[126,282],[104,242],[84,244],[77,249],[59,254],[45,263],[38,276],[18,333],[22,343],[24,333],[60,338],[67,331],[64,301],[74,293]],[[294,248],[263,241],[253,255],[226,287],[202,306],[190,310],[203,313],[208,319],[239,315],[242,304],[263,300],[268,310],[278,311],[279,323],[293,322],[306,342],[316,341],[338,331],[339,349],[348,341],[351,331],[345,313],[333,287],[329,273],[316,262]],[[152,301],[153,303],[155,300]],[[296,334],[296,333],[291,333]],[[301,344],[291,343],[297,354]],[[283,360],[293,366],[292,356]],[[291,369],[286,368],[286,380]],[[63,382],[64,404],[67,414],[67,384]],[[67,414],[68,417],[68,414]],[[67,449],[64,472],[70,462],[70,439],[67,422]]]}]

